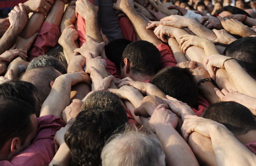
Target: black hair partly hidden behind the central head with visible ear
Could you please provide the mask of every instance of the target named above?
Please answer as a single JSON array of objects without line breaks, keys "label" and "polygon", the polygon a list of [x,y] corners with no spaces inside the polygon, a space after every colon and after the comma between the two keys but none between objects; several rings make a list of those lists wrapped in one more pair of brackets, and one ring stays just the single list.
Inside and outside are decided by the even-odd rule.
[{"label": "black hair partly hidden behind the central head with visible ear", "polygon": [[126,46],[130,43],[131,43],[130,40],[116,39],[109,42],[109,44],[105,46],[106,57],[110,61],[115,63],[115,66],[117,67],[118,72],[121,69],[123,50],[125,50]]}]

